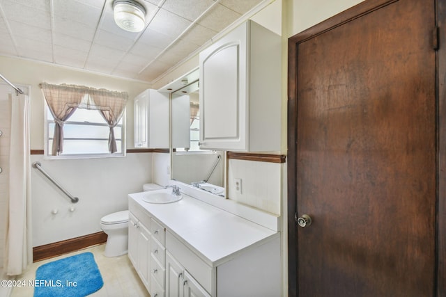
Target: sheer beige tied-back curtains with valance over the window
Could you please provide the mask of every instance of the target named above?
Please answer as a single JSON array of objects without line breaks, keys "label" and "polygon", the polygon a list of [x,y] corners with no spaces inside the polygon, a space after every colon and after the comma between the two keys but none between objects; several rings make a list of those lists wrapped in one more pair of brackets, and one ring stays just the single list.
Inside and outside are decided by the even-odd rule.
[{"label": "sheer beige tied-back curtains with valance over the window", "polygon": [[93,109],[100,112],[110,128],[109,152],[117,151],[113,128],[123,116],[128,93],[65,83],[61,85],[40,83],[39,86],[56,123],[52,146],[53,156],[63,152],[63,124],[76,109]]}]

